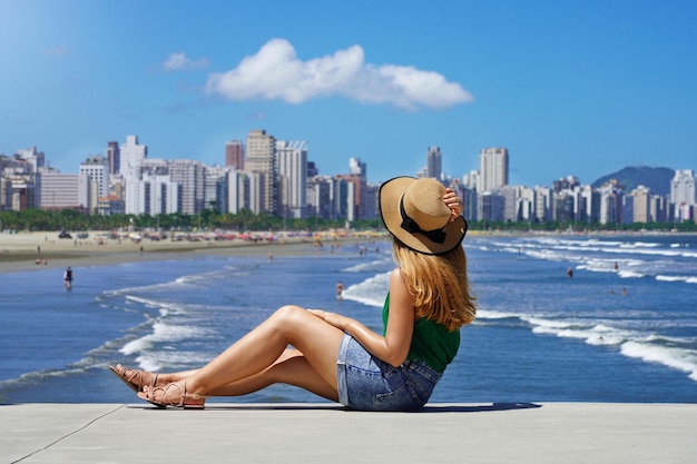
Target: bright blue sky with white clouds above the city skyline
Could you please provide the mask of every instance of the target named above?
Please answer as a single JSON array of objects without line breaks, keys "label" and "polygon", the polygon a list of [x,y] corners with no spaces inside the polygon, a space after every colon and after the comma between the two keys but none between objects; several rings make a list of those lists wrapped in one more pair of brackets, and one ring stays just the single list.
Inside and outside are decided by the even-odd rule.
[{"label": "bright blue sky with white clouds above the city skyline", "polygon": [[266,129],[321,174],[460,177],[507,147],[510,182],[697,169],[697,2],[0,0],[0,154],[77,172],[137,135],[223,164]]}]

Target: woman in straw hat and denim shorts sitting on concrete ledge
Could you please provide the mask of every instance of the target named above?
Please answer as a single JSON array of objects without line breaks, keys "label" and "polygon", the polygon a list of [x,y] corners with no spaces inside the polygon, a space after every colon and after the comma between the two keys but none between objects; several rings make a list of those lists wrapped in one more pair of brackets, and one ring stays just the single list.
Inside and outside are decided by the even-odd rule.
[{"label": "woman in straw hat and denim shorts sitting on concrete ledge", "polygon": [[210,396],[285,383],[354,409],[421,408],[458,352],[460,327],[474,319],[461,246],[467,223],[458,197],[434,179],[391,179],[380,206],[399,265],[382,335],[335,313],[284,306],[200,369],[110,369],[160,407],[203,408]]}]

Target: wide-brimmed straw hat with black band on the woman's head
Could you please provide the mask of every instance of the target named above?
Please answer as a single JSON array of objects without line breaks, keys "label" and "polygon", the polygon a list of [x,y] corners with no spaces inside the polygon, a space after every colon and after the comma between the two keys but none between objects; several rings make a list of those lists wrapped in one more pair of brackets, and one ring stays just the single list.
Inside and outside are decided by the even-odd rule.
[{"label": "wide-brimmed straw hat with black band on the woman's head", "polygon": [[414,251],[445,254],[462,243],[468,225],[450,221],[445,187],[435,179],[395,177],[380,186],[380,213],[390,234]]}]

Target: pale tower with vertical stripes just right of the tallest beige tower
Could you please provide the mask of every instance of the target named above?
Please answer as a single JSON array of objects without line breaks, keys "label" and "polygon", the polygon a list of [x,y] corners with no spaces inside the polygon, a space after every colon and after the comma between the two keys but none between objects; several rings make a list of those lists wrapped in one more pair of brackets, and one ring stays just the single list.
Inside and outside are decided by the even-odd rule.
[{"label": "pale tower with vertical stripes just right of the tallest beige tower", "polygon": [[282,217],[307,217],[307,142],[276,141],[276,159]]}]

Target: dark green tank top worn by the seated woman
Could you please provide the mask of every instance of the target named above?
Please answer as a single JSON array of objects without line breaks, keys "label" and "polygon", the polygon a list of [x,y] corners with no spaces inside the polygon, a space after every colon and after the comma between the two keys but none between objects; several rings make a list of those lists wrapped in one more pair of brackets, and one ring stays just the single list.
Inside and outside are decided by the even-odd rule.
[{"label": "dark green tank top worn by the seated woman", "polygon": [[[383,336],[387,330],[389,318],[390,294],[382,307]],[[422,361],[432,369],[442,373],[458,354],[458,348],[460,348],[460,329],[448,332],[445,326],[421,318],[414,324],[414,334],[406,359]]]}]

